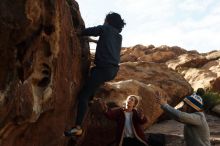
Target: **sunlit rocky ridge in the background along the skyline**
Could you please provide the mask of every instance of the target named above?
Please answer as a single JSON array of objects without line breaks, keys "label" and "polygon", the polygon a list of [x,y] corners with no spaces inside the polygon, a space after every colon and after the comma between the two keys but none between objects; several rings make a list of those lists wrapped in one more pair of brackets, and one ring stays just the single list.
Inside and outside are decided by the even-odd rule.
[{"label": "sunlit rocky ridge in the background along the skyline", "polygon": [[165,63],[182,74],[194,90],[202,87],[220,92],[220,51],[199,54],[176,46],[136,45],[123,49],[121,62],[127,61]]}]

